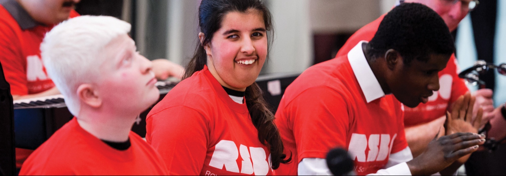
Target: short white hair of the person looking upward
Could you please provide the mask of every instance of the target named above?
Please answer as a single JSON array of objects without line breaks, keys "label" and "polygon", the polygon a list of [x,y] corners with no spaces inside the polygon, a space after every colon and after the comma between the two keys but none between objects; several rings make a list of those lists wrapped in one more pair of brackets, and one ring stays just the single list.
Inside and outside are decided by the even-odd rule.
[{"label": "short white hair of the person looking upward", "polygon": [[46,34],[40,51],[48,75],[65,97],[72,113],[79,114],[77,88],[92,83],[103,60],[98,53],[131,25],[114,17],[80,16],[64,21]]}]

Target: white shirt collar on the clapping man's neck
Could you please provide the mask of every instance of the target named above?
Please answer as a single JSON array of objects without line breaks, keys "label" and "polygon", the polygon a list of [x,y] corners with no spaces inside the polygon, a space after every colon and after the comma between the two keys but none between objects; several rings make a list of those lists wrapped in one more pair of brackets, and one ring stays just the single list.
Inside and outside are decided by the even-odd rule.
[{"label": "white shirt collar on the clapping man's neck", "polygon": [[360,41],[353,47],[348,53],[348,60],[350,61],[351,69],[355,73],[355,77],[358,80],[360,89],[364,93],[365,100],[367,103],[372,102],[376,99],[385,97],[385,93],[379,85],[376,76],[372,73],[371,67],[365,59],[364,52],[362,50],[362,43],[367,41]]}]

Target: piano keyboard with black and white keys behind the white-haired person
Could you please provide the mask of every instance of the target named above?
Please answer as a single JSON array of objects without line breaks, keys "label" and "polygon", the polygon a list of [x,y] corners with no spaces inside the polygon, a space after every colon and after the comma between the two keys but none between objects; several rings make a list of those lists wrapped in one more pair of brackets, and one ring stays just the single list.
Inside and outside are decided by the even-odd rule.
[{"label": "piano keyboard with black and white keys behind the white-haired person", "polygon": [[[176,84],[177,82],[171,81],[156,82],[155,85],[160,91],[157,103]],[[146,136],[146,116],[153,106],[141,113],[139,116],[141,121],[136,122],[132,127],[132,131],[141,137]],[[14,101],[16,147],[36,149],[73,117],[68,111],[62,95]]]}]

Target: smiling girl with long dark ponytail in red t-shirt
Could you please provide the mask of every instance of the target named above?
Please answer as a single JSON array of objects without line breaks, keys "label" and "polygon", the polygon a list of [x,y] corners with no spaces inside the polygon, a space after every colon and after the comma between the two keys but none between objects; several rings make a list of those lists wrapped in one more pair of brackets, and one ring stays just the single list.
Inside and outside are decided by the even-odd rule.
[{"label": "smiling girl with long dark ponytail in red t-shirt", "polygon": [[272,34],[259,0],[203,0],[199,42],[181,81],[147,117],[170,174],[273,174],[287,163],[255,80]]}]

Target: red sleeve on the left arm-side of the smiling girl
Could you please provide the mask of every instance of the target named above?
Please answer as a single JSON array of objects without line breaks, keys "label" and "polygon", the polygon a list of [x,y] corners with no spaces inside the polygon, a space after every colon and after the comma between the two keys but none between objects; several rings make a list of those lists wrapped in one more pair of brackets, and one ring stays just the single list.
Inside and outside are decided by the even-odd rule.
[{"label": "red sleeve on the left arm-side of the smiling girl", "polygon": [[170,175],[198,175],[204,165],[209,132],[197,111],[176,106],[146,119],[147,142],[160,153]]}]

